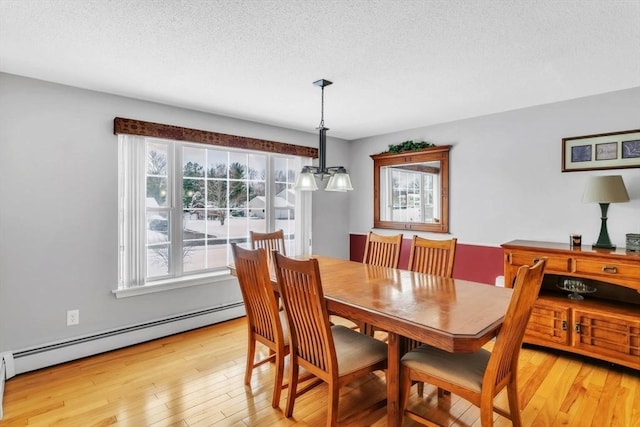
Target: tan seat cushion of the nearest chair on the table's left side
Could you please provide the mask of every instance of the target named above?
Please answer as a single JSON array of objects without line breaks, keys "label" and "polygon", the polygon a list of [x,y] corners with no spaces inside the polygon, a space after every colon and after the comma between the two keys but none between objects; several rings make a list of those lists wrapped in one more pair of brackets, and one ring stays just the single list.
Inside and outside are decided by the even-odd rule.
[{"label": "tan seat cushion of the nearest chair on the table's left side", "polygon": [[338,376],[343,376],[387,358],[387,344],[342,325],[331,327],[338,359]]}]

